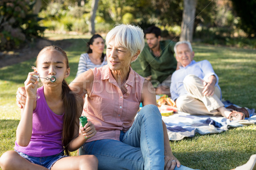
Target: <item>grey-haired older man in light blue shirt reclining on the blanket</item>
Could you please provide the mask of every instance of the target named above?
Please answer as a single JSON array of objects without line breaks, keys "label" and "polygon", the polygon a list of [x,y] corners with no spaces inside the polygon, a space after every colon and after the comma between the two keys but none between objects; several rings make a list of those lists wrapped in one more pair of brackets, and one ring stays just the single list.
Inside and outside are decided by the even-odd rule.
[{"label": "grey-haired older man in light blue shirt reclining on the blanket", "polygon": [[177,42],[175,47],[177,62],[182,66],[172,74],[170,93],[179,111],[199,115],[219,115],[232,120],[249,117],[246,109],[233,111],[221,102],[221,88],[218,76],[209,61],[195,62],[190,42]]}]

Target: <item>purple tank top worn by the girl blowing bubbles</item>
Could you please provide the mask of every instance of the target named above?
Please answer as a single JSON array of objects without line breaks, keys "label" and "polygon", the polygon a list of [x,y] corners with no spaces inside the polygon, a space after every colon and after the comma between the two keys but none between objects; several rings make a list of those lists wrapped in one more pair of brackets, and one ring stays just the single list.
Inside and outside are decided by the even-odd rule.
[{"label": "purple tank top worn by the girl blowing bubbles", "polygon": [[36,108],[33,111],[32,136],[29,145],[21,147],[15,141],[15,150],[29,156],[51,156],[64,149],[61,142],[63,116],[53,113],[44,97],[44,86],[37,90]]}]

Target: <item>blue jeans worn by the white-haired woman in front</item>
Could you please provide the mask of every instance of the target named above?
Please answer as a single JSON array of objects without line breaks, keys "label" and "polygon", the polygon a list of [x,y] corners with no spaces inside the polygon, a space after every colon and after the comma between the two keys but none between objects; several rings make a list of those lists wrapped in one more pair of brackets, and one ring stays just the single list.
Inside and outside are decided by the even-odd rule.
[{"label": "blue jeans worn by the white-haired woman in front", "polygon": [[[163,170],[164,144],[161,114],[155,105],[145,105],[120,141],[102,139],[86,142],[79,155],[95,155],[99,170]],[[175,168],[175,170],[189,170]]]}]

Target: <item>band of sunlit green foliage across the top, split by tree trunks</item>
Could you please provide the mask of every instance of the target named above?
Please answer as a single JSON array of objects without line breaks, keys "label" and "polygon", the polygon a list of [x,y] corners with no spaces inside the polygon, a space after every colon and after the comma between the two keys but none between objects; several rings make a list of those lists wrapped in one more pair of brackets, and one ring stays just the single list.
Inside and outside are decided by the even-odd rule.
[{"label": "band of sunlit green foliage across the top, split by tree trunks", "polygon": [[[60,2],[44,1],[40,12],[40,17],[44,18],[42,26],[55,31],[87,33],[92,1],[84,1],[83,6],[81,0]],[[178,40],[182,13],[183,0],[100,0],[96,11],[95,31],[99,34],[107,33],[116,23],[133,23],[143,29],[156,25],[161,28],[162,37],[175,37]],[[255,48],[255,39],[239,38],[246,35],[240,29],[240,23],[241,18],[233,14],[231,0],[198,0],[194,40]]]}]

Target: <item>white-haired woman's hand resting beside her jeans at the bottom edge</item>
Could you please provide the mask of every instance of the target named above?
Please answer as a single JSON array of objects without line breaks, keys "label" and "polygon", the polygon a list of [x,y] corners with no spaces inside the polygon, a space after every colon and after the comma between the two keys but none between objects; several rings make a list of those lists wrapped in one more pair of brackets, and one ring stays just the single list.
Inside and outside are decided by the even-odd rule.
[{"label": "white-haired woman's hand resting beside her jeans at the bottom edge", "polygon": [[180,161],[173,156],[172,151],[164,151],[164,169],[174,170],[175,166],[180,167]]}]

